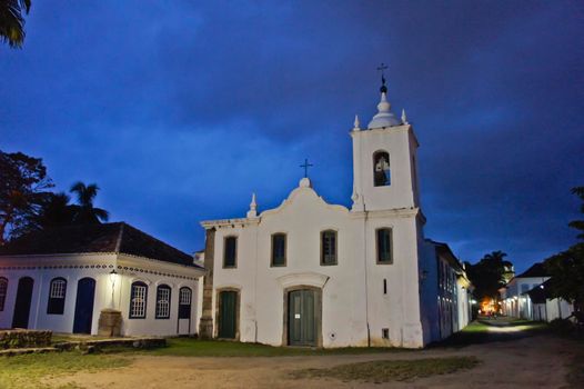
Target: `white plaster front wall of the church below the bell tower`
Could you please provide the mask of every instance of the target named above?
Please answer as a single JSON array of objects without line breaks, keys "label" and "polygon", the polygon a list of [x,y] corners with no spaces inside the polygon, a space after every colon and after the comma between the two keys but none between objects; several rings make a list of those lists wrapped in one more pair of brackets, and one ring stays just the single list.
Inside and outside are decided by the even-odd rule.
[{"label": "white plaster front wall of the church below the bell tower", "polygon": [[[380,227],[393,229],[393,265],[375,263],[375,229]],[[325,229],[338,231],[335,266],[320,265],[320,232]],[[285,267],[270,267],[275,232],[286,233]],[[262,213],[260,222],[235,220],[217,229],[213,310],[217,290],[240,289],[240,340],[280,346],[284,328],[281,278],[320,275],[328,278],[322,289],[324,347],[366,346],[367,317],[372,345],[422,347],[416,232],[415,213],[351,213],[326,205],[310,188],[298,188],[284,206]],[[228,236],[238,237],[235,269],[222,267]],[[303,285],[303,278],[298,279]],[[383,295],[383,279],[387,295]],[[381,339],[382,328],[390,329],[389,341]]]}]

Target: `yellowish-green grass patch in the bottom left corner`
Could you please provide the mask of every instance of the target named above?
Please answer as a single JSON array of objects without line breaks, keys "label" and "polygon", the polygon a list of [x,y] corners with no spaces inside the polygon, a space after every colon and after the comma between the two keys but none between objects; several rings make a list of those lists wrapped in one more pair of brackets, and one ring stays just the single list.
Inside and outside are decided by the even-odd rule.
[{"label": "yellowish-green grass patch in the bottom left corner", "polygon": [[[131,363],[129,358],[81,352],[30,353],[0,358],[0,388],[50,388],[46,382],[77,371],[98,371],[121,368]],[[74,388],[64,386],[63,388]]]}]

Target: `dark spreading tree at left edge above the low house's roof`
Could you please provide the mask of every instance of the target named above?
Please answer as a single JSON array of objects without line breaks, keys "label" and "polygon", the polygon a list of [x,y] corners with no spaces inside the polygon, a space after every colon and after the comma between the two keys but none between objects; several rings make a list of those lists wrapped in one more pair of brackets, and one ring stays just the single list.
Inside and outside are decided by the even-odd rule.
[{"label": "dark spreading tree at left edge above the low house's roof", "polygon": [[0,151],[0,246],[34,222],[52,187],[40,158]]}]

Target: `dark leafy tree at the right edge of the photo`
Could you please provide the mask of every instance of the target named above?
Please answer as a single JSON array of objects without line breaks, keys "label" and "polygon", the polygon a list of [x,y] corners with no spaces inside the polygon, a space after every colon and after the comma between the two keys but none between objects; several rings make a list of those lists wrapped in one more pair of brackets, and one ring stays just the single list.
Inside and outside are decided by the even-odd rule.
[{"label": "dark leafy tree at the right edge of the photo", "polygon": [[[573,188],[572,193],[583,201],[580,211],[584,213],[584,187]],[[571,221],[568,226],[584,231],[584,220]],[[584,233],[578,233],[577,239],[584,240]],[[582,316],[584,312],[584,241],[547,258],[544,266],[551,276],[546,288],[548,296],[574,302],[575,310]]]}]

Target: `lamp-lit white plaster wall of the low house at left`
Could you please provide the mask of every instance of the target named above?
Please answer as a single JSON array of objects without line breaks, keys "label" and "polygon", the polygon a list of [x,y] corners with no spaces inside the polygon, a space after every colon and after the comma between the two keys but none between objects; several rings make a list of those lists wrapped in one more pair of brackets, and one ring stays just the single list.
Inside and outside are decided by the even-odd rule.
[{"label": "lamp-lit white plaster wall of the low house at left", "polygon": [[[122,256],[123,257],[123,256]],[[128,258],[122,258],[123,261]],[[132,263],[141,268],[154,268],[157,270],[190,272],[172,263],[150,263],[148,260],[131,259]],[[78,281],[90,277],[95,280],[95,292],[93,300],[93,317],[91,332],[98,332],[100,311],[104,308],[115,308],[122,311],[122,335],[177,335],[179,289],[183,286],[193,291],[191,309],[191,333],[197,332],[198,320],[198,281],[178,279],[173,277],[153,276],[145,272],[123,270],[118,267],[117,255],[66,255],[66,256],[31,256],[7,258],[0,257],[0,268],[20,266],[29,269],[0,270],[0,277],[9,280],[4,310],[0,311],[0,328],[10,328],[14,311],[14,302],[18,281],[21,277],[31,277],[34,280],[31,311],[29,316],[29,328],[50,329],[54,332],[72,332],[73,318],[77,300]],[[97,266],[100,268],[97,268]],[[54,267],[66,268],[54,268]],[[70,266],[79,266],[69,268]],[[104,268],[103,268],[104,267]],[[34,269],[33,269],[34,268]],[[114,286],[112,305],[111,270],[115,268],[119,276]],[[48,315],[49,287],[53,278],[62,277],[67,280],[67,293],[63,315]],[[131,283],[133,280],[142,280],[148,286],[148,306],[145,319],[129,319]],[[171,318],[155,319],[155,293],[157,286],[165,283],[172,288],[171,292]]]}]

